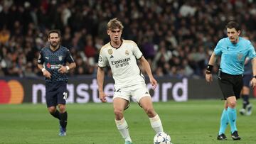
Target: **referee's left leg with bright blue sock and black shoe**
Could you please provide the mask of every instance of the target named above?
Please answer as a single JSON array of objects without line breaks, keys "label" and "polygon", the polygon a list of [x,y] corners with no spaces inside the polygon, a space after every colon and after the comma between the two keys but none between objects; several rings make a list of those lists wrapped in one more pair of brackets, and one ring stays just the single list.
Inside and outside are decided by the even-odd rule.
[{"label": "referee's left leg with bright blue sock and black shoe", "polygon": [[225,100],[223,113],[221,114],[221,117],[220,117],[220,131],[217,136],[218,140],[227,140],[227,137],[225,136],[225,129],[228,126],[228,111],[227,111],[227,109],[228,109],[228,103]]}]

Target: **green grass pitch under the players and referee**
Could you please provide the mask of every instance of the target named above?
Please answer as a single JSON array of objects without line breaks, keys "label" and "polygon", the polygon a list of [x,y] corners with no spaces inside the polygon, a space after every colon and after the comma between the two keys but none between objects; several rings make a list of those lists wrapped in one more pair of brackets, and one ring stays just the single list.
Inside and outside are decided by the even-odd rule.
[{"label": "green grass pitch under the players and referee", "polygon": [[[238,109],[242,101],[238,101]],[[256,106],[255,99],[251,103]],[[58,136],[58,121],[50,116],[44,104],[0,105],[0,143],[85,143],[123,144],[124,140],[114,123],[112,104],[68,104],[67,136]],[[220,114],[223,101],[190,100],[154,103],[164,126],[174,144],[206,143],[256,143],[256,114],[240,116],[238,132],[242,138],[233,141],[230,127],[228,140],[218,141]],[[254,109],[256,112],[256,109]],[[149,118],[135,103],[124,113],[134,144],[153,143],[154,131]]]}]

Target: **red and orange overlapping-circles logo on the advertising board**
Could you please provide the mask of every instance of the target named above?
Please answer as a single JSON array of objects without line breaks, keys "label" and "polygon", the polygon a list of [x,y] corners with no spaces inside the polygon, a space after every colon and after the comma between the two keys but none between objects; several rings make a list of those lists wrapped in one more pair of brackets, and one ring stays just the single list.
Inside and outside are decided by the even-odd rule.
[{"label": "red and orange overlapping-circles logo on the advertising board", "polygon": [[24,90],[20,82],[0,80],[0,104],[21,104]]}]

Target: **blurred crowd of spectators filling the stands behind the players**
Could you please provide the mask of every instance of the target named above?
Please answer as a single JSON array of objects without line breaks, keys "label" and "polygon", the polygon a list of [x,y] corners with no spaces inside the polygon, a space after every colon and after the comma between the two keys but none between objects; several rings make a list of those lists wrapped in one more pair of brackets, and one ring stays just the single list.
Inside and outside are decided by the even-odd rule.
[{"label": "blurred crowd of spectators filling the stands behind the players", "polygon": [[124,24],[122,38],[137,43],[159,77],[203,77],[228,21],[256,40],[255,0],[0,0],[0,76],[41,76],[38,52],[50,29],[60,29],[72,52],[71,75],[96,74],[114,17]]}]

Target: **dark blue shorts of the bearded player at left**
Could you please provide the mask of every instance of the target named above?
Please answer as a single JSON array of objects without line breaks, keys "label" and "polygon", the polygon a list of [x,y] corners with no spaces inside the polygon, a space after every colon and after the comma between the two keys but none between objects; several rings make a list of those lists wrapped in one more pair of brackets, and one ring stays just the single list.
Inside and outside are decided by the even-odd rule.
[{"label": "dark blue shorts of the bearded player at left", "polygon": [[46,82],[46,104],[47,107],[65,104],[67,99],[66,82]]}]

